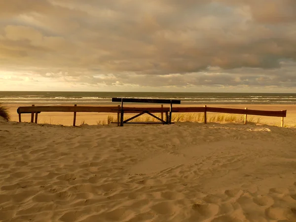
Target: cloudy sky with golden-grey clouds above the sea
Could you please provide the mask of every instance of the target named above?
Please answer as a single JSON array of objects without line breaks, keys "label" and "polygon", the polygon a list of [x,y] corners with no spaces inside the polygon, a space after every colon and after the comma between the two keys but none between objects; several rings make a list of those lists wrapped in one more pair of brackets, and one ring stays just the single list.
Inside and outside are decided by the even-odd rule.
[{"label": "cloudy sky with golden-grey clouds above the sea", "polygon": [[296,0],[0,0],[0,90],[296,92]]}]

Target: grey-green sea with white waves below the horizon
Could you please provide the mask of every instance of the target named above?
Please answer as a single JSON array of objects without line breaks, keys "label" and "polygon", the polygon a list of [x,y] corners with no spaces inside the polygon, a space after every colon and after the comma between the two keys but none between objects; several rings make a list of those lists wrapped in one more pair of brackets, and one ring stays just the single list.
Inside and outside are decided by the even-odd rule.
[{"label": "grey-green sea with white waves below the horizon", "polygon": [[296,104],[296,93],[0,91],[2,104],[112,105],[112,97],[177,99],[181,104]]}]

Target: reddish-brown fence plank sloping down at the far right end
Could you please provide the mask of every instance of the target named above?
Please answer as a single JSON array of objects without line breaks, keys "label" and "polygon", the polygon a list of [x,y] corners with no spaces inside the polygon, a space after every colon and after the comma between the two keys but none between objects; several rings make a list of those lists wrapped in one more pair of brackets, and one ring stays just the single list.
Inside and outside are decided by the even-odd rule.
[{"label": "reddish-brown fence plank sloping down at the far right end", "polygon": [[207,107],[208,112],[222,112],[233,114],[248,114],[248,115],[263,115],[263,116],[277,116],[286,117],[287,111],[262,111],[262,110],[243,110],[243,109],[230,109],[230,108],[216,108]]}]

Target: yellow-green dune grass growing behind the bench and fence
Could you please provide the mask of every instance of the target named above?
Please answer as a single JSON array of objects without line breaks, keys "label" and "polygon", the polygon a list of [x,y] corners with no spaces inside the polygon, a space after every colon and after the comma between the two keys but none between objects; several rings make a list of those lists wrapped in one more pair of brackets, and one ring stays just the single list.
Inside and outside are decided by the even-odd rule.
[{"label": "yellow-green dune grass growing behind the bench and fence", "polygon": [[[157,117],[160,118],[160,114],[155,114]],[[125,115],[124,120],[132,117],[133,115]],[[240,114],[208,114],[207,115],[207,122],[239,122],[244,120],[244,115]],[[141,115],[137,118],[130,120],[130,122],[155,122],[158,121],[157,119],[153,118],[148,114]],[[173,113],[172,114],[172,121],[173,122],[204,122],[204,114],[202,112],[197,113]],[[255,122],[259,123],[260,118],[250,117],[247,119],[248,122]],[[106,120],[99,120],[97,124],[106,125],[110,124],[111,122],[117,122],[117,117],[113,115],[108,115],[107,121]]]}]

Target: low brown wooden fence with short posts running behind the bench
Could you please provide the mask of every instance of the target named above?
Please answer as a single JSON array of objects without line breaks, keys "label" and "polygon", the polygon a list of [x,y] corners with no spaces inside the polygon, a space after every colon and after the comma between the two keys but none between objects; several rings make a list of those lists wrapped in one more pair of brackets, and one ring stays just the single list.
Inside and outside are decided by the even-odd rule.
[{"label": "low brown wooden fence with short posts running behind the bench", "polygon": [[[117,113],[117,124],[119,125],[119,115],[121,107],[88,107],[88,106],[35,106],[31,107],[19,107],[17,113],[19,114],[19,122],[21,122],[22,113],[31,113],[31,122],[34,122],[35,114],[35,123],[37,123],[38,113],[40,112],[73,112],[73,126],[75,126],[76,112],[110,112]],[[169,107],[123,107],[125,113],[139,113],[143,111],[149,111],[151,113],[161,113],[163,119],[163,113],[168,113],[170,111]],[[287,116],[287,110],[283,111],[261,111],[261,110],[248,110],[245,109],[230,109],[230,108],[216,108],[216,107],[174,107],[172,112],[203,112],[204,113],[204,123],[207,123],[207,112],[220,112],[220,113],[231,113],[231,114],[244,114],[244,124],[247,123],[247,115],[261,115],[261,116],[275,116],[281,117],[281,126],[284,126],[284,117]]]}]

